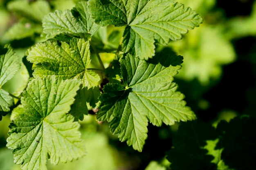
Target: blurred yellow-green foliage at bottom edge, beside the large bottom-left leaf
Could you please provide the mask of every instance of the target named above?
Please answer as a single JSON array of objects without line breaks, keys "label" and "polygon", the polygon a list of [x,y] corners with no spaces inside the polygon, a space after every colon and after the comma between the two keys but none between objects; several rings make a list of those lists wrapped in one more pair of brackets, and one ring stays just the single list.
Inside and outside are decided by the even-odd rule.
[{"label": "blurred yellow-green foliage at bottom edge, beside the large bottom-left leaf", "polygon": [[109,144],[108,134],[99,130],[101,128],[102,124],[99,125],[93,115],[86,116],[79,130],[88,155],[73,162],[47,167],[50,170],[120,170],[120,167],[126,167],[121,155]]}]

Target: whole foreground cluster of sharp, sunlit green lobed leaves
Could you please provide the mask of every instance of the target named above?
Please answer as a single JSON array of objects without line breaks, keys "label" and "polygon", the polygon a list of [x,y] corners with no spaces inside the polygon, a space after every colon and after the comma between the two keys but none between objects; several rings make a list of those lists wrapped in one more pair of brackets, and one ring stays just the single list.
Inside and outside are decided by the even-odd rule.
[{"label": "whole foreground cluster of sharp, sunlit green lobed leaves", "polygon": [[[109,122],[113,134],[140,152],[148,122],[162,126],[196,118],[173,82],[183,57],[155,52],[155,46],[181,39],[199,26],[199,14],[173,0],[81,0],[71,10],[53,13],[49,7],[43,0],[9,4],[27,18],[6,33],[9,39],[16,37],[11,33],[16,30],[22,35],[17,39],[41,33],[41,21],[41,35],[47,39],[26,52],[33,77],[9,126],[7,147],[22,169],[44,170],[47,159],[57,164],[85,155],[78,120],[89,110],[99,110],[96,119]],[[124,26],[124,32],[121,39],[108,36],[106,47],[115,53],[106,64],[99,54],[104,48],[95,42],[106,42],[100,26],[109,25]],[[1,50],[0,64],[2,87],[20,64],[8,45]],[[10,111],[12,98],[0,90],[0,111]]]}]

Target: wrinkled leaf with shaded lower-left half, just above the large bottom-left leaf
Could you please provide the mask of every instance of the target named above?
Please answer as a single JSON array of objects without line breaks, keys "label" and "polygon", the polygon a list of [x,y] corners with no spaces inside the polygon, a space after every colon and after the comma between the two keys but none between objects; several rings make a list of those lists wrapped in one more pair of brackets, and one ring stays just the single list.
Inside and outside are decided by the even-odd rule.
[{"label": "wrinkled leaf with shaded lower-left half, just above the large bottom-left leaf", "polygon": [[56,75],[62,79],[82,79],[83,87],[99,85],[100,77],[88,70],[90,44],[84,39],[73,38],[67,42],[45,41],[32,47],[27,60],[35,63],[33,75],[43,77]]}]

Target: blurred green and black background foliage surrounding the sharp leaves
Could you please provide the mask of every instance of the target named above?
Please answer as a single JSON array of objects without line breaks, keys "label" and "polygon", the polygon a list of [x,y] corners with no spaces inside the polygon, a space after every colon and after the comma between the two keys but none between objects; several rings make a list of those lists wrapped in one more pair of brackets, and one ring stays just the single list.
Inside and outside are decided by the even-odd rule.
[{"label": "blurred green and black background foliage surrounding the sharp leaves", "polygon": [[[79,0],[0,0],[0,45],[11,44],[22,68],[3,89],[19,96],[31,77],[27,49],[45,41],[41,20]],[[184,56],[175,78],[198,120],[155,127],[149,124],[142,153],[110,134],[94,114],[81,123],[87,155],[49,170],[255,170],[256,167],[256,0],[178,0],[204,17],[180,41],[158,47]],[[100,28],[92,38],[107,67],[123,28]],[[99,65],[92,53],[92,67]],[[116,80],[118,81],[117,75]],[[19,101],[16,100],[16,105]],[[93,113],[93,112],[90,112]],[[0,121],[0,170],[20,170],[5,147],[8,125]]]}]

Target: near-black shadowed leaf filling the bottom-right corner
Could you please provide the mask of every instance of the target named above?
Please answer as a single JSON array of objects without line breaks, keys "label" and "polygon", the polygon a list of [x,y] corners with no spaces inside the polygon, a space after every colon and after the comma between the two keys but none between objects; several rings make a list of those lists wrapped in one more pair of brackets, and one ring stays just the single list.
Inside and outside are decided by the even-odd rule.
[{"label": "near-black shadowed leaf filling the bottom-right corner", "polygon": [[253,170],[256,166],[256,119],[234,118],[229,123],[223,121],[217,127],[220,141],[216,148],[223,149],[221,158],[230,168]]}]

